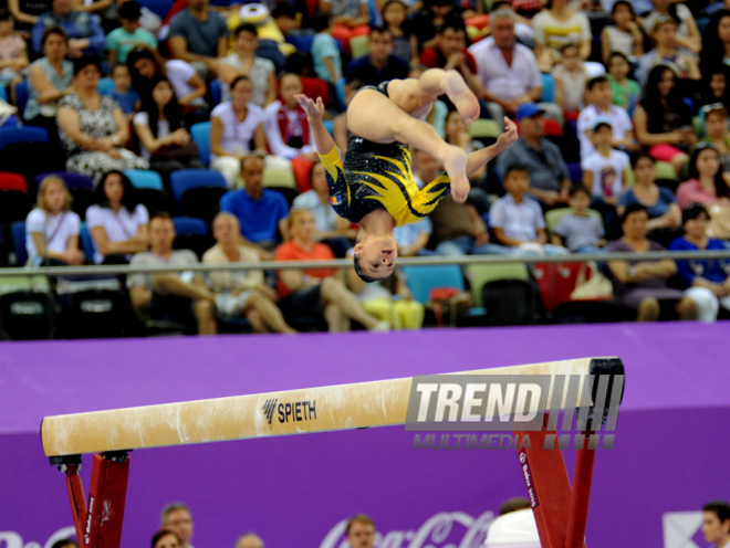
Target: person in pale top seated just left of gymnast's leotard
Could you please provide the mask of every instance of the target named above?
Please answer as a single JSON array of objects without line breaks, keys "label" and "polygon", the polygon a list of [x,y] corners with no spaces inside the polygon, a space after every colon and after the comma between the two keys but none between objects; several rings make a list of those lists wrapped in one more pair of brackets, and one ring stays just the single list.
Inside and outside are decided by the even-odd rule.
[{"label": "person in pale top seated just left of gymnast's leotard", "polygon": [[351,239],[355,239],[355,231],[350,221],[337,215],[332,208],[326,173],[319,161],[312,165],[311,180],[312,190],[294,198],[292,210],[311,212],[316,228],[314,240],[326,244],[337,259],[343,259],[353,246]]}]

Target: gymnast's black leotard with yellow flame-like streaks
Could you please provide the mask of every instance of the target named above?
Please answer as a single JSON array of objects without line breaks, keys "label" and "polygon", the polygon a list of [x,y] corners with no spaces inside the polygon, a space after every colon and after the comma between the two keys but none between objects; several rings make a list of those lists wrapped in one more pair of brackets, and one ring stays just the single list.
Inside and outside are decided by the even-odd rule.
[{"label": "gymnast's black leotard with yellow flame-like streaks", "polygon": [[[387,85],[384,82],[363,89],[376,89],[387,96]],[[419,190],[410,169],[410,151],[403,143],[378,144],[351,133],[344,166],[336,147],[320,158],[327,173],[332,207],[353,223],[376,209],[390,213],[398,226],[419,221],[450,190],[446,175]]]}]

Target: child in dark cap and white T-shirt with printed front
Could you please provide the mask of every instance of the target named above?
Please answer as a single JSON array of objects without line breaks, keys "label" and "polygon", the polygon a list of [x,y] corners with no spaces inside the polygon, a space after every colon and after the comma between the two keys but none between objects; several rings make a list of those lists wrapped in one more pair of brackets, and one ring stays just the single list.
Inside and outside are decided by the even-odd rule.
[{"label": "child in dark cap and white T-shirt with printed front", "polygon": [[616,205],[628,182],[628,155],[611,146],[613,128],[608,118],[596,118],[592,134],[595,149],[581,160],[583,185],[592,189],[594,199]]}]

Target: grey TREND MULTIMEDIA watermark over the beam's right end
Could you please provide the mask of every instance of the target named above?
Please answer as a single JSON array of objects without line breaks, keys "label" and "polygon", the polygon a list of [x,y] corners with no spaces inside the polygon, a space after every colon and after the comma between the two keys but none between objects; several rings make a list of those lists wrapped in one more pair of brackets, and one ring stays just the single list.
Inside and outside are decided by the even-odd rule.
[{"label": "grey TREND MULTIMEDIA watermark over the beam's right end", "polygon": [[609,450],[623,388],[623,375],[414,377],[406,430],[414,450]]}]

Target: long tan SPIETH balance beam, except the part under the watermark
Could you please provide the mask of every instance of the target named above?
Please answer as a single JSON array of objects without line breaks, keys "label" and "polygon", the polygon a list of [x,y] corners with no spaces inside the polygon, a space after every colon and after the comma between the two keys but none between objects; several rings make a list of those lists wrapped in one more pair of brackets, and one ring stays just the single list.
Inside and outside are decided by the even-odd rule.
[{"label": "long tan SPIETH balance beam, except the part under the watermark", "polygon": [[[620,363],[617,358],[582,358],[451,375],[616,373],[606,369],[607,362]],[[46,417],[41,439],[45,455],[56,457],[405,424],[410,386],[405,378]],[[581,391],[576,401],[563,396],[561,409],[578,407]],[[272,420],[280,403],[299,420]]]}]

